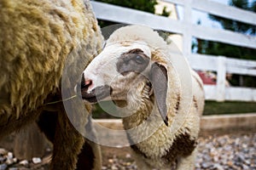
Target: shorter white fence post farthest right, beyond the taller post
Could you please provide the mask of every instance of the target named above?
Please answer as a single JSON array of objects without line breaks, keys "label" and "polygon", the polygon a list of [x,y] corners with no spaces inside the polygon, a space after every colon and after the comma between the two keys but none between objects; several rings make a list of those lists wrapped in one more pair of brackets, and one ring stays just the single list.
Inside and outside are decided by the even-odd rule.
[{"label": "shorter white fence post farthest right, beyond the taller post", "polygon": [[226,58],[218,56],[217,101],[225,100]]}]

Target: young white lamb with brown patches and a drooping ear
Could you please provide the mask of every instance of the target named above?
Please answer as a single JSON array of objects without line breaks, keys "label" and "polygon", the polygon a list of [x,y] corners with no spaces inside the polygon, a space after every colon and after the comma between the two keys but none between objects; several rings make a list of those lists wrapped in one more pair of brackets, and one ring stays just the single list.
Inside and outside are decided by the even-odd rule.
[{"label": "young white lamb with brown patches and a drooping ear", "polygon": [[193,169],[204,92],[186,60],[146,26],[114,31],[83,71],[85,103],[113,100],[138,169]]}]

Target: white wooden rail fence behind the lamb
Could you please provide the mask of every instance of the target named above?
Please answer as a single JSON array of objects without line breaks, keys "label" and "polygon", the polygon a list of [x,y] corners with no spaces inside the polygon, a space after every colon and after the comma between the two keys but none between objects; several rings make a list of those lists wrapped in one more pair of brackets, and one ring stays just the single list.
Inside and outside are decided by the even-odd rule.
[{"label": "white wooden rail fence behind the lamb", "polygon": [[225,87],[226,73],[253,76],[256,81],[256,61],[191,53],[192,37],[229,43],[241,47],[256,48],[256,37],[193,24],[192,10],[200,10],[230,20],[239,20],[253,26],[256,26],[256,14],[209,0],[165,0],[165,2],[182,5],[184,8],[183,20],[171,20],[163,16],[107,3],[92,1],[91,4],[98,19],[144,25],[156,30],[181,34],[183,36],[183,54],[189,59],[189,64],[192,68],[204,71],[217,71],[217,85],[204,86],[206,99],[218,101],[256,101],[255,88]]}]

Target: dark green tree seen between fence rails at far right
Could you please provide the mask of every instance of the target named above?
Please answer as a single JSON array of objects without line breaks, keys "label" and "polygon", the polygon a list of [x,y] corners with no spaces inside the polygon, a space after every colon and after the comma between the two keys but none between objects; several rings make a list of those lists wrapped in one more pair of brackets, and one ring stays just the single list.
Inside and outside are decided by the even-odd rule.
[{"label": "dark green tree seen between fence rails at far right", "polygon": [[[230,0],[229,4],[230,6],[234,6],[236,8],[242,8],[254,13],[256,12],[256,2],[250,3],[248,0]],[[242,23],[237,20],[228,20],[212,14],[209,14],[208,16],[211,20],[218,21],[225,30],[256,36],[256,26]],[[200,22],[198,24],[200,24]],[[192,48],[197,48],[197,53],[199,54],[223,55],[236,59],[256,60],[255,49],[238,47],[223,42],[211,42],[197,39],[197,44],[193,44]],[[256,87],[255,77],[240,77],[238,75],[234,75],[230,82],[232,85]]]}]

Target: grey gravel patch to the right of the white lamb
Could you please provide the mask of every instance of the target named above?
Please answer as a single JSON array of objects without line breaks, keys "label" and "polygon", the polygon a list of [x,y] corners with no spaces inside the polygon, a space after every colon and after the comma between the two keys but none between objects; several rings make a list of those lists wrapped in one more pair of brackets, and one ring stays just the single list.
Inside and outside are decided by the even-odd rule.
[{"label": "grey gravel patch to the right of the white lamb", "polygon": [[199,139],[195,169],[256,169],[256,133]]}]

